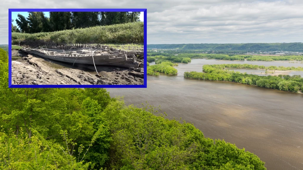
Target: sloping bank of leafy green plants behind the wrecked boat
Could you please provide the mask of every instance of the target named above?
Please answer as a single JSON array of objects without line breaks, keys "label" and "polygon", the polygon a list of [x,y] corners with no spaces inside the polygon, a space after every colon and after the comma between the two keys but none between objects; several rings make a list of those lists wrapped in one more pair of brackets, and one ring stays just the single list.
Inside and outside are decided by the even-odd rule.
[{"label": "sloping bank of leafy green plants behind the wrecked boat", "polygon": [[12,32],[12,44],[19,43],[19,40],[56,43],[143,43],[143,37],[143,22],[133,22],[34,34]]}]

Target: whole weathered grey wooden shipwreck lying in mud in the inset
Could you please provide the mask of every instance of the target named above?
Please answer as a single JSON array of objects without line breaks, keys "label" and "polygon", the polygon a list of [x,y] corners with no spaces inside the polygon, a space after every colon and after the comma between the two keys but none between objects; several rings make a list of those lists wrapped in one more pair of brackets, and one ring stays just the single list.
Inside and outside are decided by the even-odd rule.
[{"label": "whole weathered grey wooden shipwreck lying in mud in the inset", "polygon": [[143,52],[124,51],[103,45],[70,44],[61,46],[43,46],[22,48],[26,53],[73,64],[108,65],[117,67],[143,67]]}]

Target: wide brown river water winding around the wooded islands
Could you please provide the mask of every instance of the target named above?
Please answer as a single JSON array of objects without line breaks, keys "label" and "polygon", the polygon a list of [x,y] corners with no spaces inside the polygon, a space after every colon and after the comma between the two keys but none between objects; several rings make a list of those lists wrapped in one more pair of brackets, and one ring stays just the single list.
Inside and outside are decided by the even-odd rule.
[{"label": "wide brown river water winding around the wooded islands", "polygon": [[303,66],[288,61],[192,59],[175,67],[177,76],[148,76],[147,88],[107,90],[112,97],[125,96],[126,104],[160,105],[167,118],[181,117],[206,137],[245,148],[260,157],[268,170],[303,169],[303,94],[183,77],[185,71],[201,72],[203,64],[227,63]]}]

